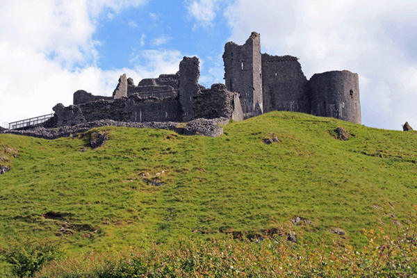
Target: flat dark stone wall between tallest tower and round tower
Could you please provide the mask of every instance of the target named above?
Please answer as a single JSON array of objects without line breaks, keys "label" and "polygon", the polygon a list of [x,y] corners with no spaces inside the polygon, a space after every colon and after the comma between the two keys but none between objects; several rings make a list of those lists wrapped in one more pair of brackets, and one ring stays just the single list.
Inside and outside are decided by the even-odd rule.
[{"label": "flat dark stone wall between tallest tower and round tower", "polygon": [[297,57],[262,54],[263,112],[310,113],[307,82]]}]

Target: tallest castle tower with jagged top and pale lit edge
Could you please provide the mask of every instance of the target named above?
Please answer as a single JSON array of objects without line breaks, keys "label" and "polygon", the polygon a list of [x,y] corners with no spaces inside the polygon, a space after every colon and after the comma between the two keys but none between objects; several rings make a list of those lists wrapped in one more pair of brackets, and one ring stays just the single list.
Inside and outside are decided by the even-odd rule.
[{"label": "tallest castle tower with jagged top and pale lit edge", "polygon": [[243,45],[224,45],[224,80],[227,90],[240,94],[245,119],[263,113],[261,35],[252,32]]}]

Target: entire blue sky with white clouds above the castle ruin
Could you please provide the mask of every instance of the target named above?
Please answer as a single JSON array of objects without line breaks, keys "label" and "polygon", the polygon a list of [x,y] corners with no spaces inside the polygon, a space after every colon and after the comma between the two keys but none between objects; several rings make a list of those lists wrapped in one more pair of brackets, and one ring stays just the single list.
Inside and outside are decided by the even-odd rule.
[{"label": "entire blue sky with white clouds above the castle ruin", "polygon": [[261,33],[261,51],[315,73],[359,74],[362,124],[417,129],[417,0],[1,0],[0,124],[52,113],[76,90],[110,96],[200,60],[223,82],[224,44]]}]

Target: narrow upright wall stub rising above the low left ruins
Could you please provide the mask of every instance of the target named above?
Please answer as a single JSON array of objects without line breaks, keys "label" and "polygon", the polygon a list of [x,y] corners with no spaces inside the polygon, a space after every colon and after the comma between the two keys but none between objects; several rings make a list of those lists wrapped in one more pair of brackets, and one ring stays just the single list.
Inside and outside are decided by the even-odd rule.
[{"label": "narrow upright wall stub rising above the low left ruins", "polygon": [[199,94],[199,60],[184,57],[179,63],[179,103],[183,122],[195,119],[194,99]]}]

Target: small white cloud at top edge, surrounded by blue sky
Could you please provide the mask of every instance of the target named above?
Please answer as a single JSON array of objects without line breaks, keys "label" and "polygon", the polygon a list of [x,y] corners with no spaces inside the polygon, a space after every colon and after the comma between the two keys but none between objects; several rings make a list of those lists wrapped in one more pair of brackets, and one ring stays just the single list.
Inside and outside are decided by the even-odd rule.
[{"label": "small white cloud at top edge, surrounded by blue sky", "polygon": [[188,0],[185,2],[185,6],[188,14],[198,24],[210,26],[213,24],[213,20],[218,12],[218,3],[220,3],[220,0]]}]

